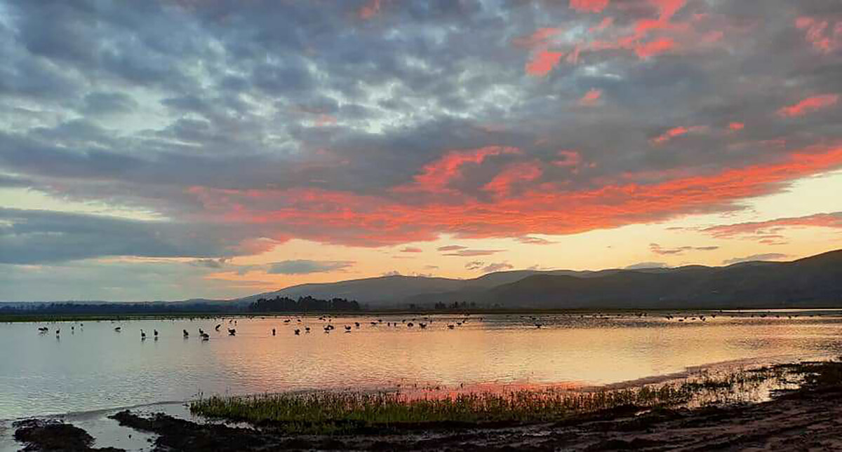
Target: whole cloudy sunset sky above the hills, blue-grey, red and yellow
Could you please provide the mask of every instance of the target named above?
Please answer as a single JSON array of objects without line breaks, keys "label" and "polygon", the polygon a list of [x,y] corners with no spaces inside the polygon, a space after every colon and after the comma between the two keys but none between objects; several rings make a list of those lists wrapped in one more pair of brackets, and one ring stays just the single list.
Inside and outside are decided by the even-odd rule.
[{"label": "whole cloudy sunset sky above the hills, blue-grey, red and yellow", "polygon": [[0,0],[0,300],[842,248],[839,0]]}]

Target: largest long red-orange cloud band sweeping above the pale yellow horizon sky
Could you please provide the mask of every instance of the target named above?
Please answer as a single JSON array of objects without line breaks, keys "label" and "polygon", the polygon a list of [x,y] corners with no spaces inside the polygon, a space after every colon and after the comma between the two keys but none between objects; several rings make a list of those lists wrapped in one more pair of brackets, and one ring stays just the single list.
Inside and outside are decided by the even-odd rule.
[{"label": "largest long red-orange cloud band sweeping above the pale yellow horizon sky", "polygon": [[626,224],[663,221],[691,213],[738,208],[734,202],[781,190],[788,181],[842,167],[842,146],[808,148],[774,163],[701,176],[676,176],[650,184],[608,183],[584,190],[541,184],[517,197],[480,201],[455,192],[442,200],[412,203],[396,197],[320,189],[189,192],[205,205],[201,219],[263,228],[263,236],[296,236],[356,245],[463,238],[577,234]]}]

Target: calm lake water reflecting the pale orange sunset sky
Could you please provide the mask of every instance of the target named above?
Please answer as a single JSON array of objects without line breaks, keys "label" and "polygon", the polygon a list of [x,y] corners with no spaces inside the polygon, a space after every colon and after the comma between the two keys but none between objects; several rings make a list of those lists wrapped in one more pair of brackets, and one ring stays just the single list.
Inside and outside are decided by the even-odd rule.
[{"label": "calm lake water reflecting the pale orange sunset sky", "polygon": [[[329,334],[323,333],[328,321],[319,318],[240,318],[231,324],[236,336],[227,334],[227,320],[6,323],[0,325],[0,418],[199,394],[489,382],[604,385],[728,360],[839,355],[842,317],[813,315],[729,313],[704,321],[696,314],[493,315],[461,325],[463,317],[441,315],[418,317],[412,328],[412,318],[379,316],[333,318]],[[370,323],[378,319],[382,323]],[[419,322],[427,327],[418,328]],[[40,334],[43,326],[50,331]],[[210,340],[200,340],[199,328]]]}]

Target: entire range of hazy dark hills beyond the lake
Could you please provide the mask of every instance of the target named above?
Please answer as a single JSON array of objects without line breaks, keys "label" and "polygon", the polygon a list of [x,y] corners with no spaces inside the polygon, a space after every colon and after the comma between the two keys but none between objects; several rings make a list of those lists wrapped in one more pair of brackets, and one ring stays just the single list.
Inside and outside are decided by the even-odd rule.
[{"label": "entire range of hazy dark hills beyond the lake", "polygon": [[474,279],[381,276],[290,286],[244,297],[344,297],[368,307],[839,307],[842,250],[791,262],[604,271],[499,271]]}]

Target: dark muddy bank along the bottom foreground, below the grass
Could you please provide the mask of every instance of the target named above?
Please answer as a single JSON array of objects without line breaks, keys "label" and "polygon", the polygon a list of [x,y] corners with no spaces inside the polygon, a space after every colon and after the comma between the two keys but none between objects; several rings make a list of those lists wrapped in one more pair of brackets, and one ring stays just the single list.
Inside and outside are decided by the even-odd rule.
[{"label": "dark muddy bank along the bottom foreground, below the grass", "polygon": [[[290,435],[271,425],[238,428],[136,410],[111,418],[156,434],[150,447],[161,451],[842,449],[842,363],[793,366],[803,371],[803,386],[781,392],[769,402],[696,409],[621,406],[529,425],[436,423],[360,430],[353,435]],[[77,430],[61,431],[79,441],[75,444],[81,449],[73,450],[90,450],[84,449],[90,441]]]}]

